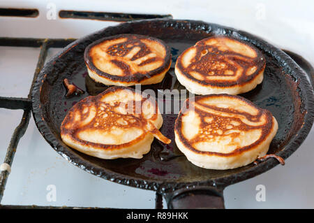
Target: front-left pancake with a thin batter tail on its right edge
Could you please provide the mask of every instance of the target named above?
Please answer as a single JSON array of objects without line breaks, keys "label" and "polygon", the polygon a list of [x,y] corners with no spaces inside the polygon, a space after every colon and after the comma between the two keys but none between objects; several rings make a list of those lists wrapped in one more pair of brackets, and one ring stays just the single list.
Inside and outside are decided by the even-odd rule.
[{"label": "front-left pancake with a thin batter tail on its right edge", "polygon": [[163,124],[156,100],[128,87],[110,87],[70,108],[61,138],[71,148],[101,159],[143,157]]}]

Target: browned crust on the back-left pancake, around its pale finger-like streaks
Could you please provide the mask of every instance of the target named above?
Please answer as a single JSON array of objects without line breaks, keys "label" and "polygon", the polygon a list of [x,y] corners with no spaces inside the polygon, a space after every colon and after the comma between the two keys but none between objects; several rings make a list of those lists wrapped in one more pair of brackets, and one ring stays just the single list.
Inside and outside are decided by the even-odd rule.
[{"label": "browned crust on the back-left pancake, around its pale finger-like streaks", "polygon": [[[139,59],[141,57],[144,57],[145,55],[148,55],[151,53],[151,50],[147,47],[145,43],[143,43],[141,40],[149,40],[149,41],[156,41],[157,43],[160,43],[165,47],[165,58],[159,58],[154,57],[147,59],[146,61],[139,64],[139,66],[144,66],[145,64],[149,64],[151,62],[156,62],[156,60],[162,60],[163,64],[159,66],[157,69],[154,69],[152,71],[147,71],[144,73],[131,73],[130,67],[128,64],[118,61],[118,60],[112,60],[112,64],[118,66],[121,70],[123,70],[124,75],[112,75],[110,73],[105,73],[103,71],[100,71],[93,62],[94,55],[92,53],[92,48],[97,47],[97,45],[100,45],[101,43],[105,41],[111,41],[117,38],[126,38],[127,40],[123,43],[118,43],[110,46],[107,49],[104,49],[108,54],[112,56],[119,56],[124,57],[130,50],[132,50],[135,46],[140,47],[141,50],[137,52],[136,55],[134,55],[130,61],[134,61],[135,59]],[[159,75],[160,73],[163,73],[170,69],[171,64],[171,53],[169,47],[160,39],[153,38],[151,36],[143,36],[143,35],[137,35],[137,34],[120,34],[116,36],[110,36],[106,38],[102,38],[98,41],[95,41],[94,43],[91,43],[87,46],[84,52],[84,60],[87,67],[91,70],[97,73],[100,76],[103,76],[104,78],[110,79],[112,81],[117,82],[142,82],[143,80],[147,80],[148,78],[152,78],[155,75]]]}]

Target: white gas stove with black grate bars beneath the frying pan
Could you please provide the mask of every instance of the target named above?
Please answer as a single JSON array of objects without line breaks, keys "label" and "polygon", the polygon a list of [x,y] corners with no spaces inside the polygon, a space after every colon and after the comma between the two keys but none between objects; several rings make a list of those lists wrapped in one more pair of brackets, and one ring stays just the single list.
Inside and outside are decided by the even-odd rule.
[{"label": "white gas stove with black grate bars beneath the frying pan", "polygon": [[[4,207],[167,208],[163,198],[103,180],[52,150],[31,117],[34,76],[63,47],[98,29],[156,17],[214,22],[261,36],[314,66],[314,17],[308,4],[296,10],[263,3],[203,1],[2,1],[0,5],[0,203]],[[224,10],[223,10],[224,9]],[[222,11],[223,10],[223,11]],[[223,12],[223,13],[218,13]],[[294,13],[293,13],[294,12]],[[240,15],[241,14],[241,15]],[[293,16],[293,17],[292,17]],[[294,55],[292,52],[297,53]],[[292,57],[293,58],[293,57]],[[226,208],[314,208],[314,130],[285,166],[227,187]],[[261,192],[264,194],[261,196]],[[2,199],[1,199],[2,198]]]}]

